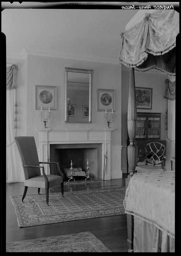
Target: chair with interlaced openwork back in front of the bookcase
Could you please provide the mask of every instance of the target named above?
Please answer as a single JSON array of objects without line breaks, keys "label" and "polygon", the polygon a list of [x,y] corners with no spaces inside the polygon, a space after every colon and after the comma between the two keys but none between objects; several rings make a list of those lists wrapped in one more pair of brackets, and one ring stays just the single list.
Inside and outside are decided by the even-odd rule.
[{"label": "chair with interlaced openwork back in front of the bookcase", "polygon": [[146,164],[136,165],[137,172],[156,171],[165,169],[165,149],[166,147],[160,142],[149,142],[145,145]]}]

